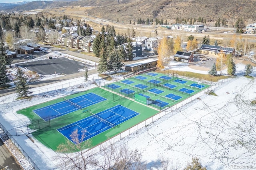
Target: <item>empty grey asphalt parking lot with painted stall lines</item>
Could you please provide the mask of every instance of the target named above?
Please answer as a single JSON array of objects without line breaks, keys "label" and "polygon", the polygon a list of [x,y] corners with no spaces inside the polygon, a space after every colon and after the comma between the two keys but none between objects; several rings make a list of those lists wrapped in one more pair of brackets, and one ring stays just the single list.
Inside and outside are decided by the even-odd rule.
[{"label": "empty grey asphalt parking lot with painted stall lines", "polygon": [[[38,58],[37,58],[38,59]],[[59,57],[53,59],[42,59],[42,60],[29,60],[26,63],[19,63],[17,66],[24,67],[30,71],[36,71],[41,75],[49,74],[73,74],[78,73],[79,69],[84,69],[85,65],[94,67],[94,65],[88,65],[80,61],[68,59],[66,57]]]}]

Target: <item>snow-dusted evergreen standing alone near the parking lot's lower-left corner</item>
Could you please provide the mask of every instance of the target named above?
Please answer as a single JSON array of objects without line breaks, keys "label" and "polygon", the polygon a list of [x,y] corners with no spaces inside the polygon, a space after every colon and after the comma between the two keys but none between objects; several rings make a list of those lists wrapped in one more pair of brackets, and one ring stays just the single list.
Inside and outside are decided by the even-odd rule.
[{"label": "snow-dusted evergreen standing alone near the parking lot's lower-left corner", "polygon": [[19,97],[27,97],[31,91],[28,90],[28,76],[25,75],[24,71],[22,69],[18,68],[17,73],[15,75],[16,82],[14,83],[16,85],[16,93],[18,93]]}]

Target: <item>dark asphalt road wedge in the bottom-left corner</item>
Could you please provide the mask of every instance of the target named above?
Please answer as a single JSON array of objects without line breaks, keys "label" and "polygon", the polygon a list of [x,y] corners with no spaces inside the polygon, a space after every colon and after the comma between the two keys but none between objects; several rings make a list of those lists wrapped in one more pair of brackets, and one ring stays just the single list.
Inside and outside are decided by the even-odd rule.
[{"label": "dark asphalt road wedge in the bottom-left corner", "polygon": [[6,170],[22,170],[23,168],[16,162],[6,146],[0,140],[0,169],[7,167]]}]

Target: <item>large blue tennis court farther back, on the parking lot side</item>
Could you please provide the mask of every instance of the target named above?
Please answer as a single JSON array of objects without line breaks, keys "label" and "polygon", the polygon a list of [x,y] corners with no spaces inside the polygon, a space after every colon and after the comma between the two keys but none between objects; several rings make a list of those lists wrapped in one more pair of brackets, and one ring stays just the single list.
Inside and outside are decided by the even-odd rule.
[{"label": "large blue tennis court farther back, on the parking lot side", "polygon": [[44,121],[48,121],[49,119],[51,120],[56,117],[66,115],[68,113],[77,111],[84,107],[94,105],[96,103],[100,103],[105,100],[106,99],[104,97],[98,96],[94,93],[88,93],[86,95],[69,99],[69,101],[71,101],[72,103],[64,100],[53,105],[36,109],[33,112],[36,113],[36,115],[38,115],[42,119],[44,119]]}]

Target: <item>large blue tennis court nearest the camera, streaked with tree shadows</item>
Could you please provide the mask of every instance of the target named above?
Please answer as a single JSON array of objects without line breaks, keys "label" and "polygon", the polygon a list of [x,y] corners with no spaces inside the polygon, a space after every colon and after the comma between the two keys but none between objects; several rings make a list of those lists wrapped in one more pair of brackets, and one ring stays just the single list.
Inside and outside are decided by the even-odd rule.
[{"label": "large blue tennis court nearest the camera, streaked with tree shadows", "polygon": [[[116,125],[119,125],[133,117],[136,117],[140,113],[128,109],[122,105],[117,105],[106,109],[100,113],[96,113],[90,117],[81,119],[80,121],[74,122],[70,125],[57,129],[62,135],[68,138],[71,142],[72,139],[70,134],[76,129],[78,129],[78,134],[84,132],[85,136],[79,142],[83,142],[97,134],[100,134]],[[73,142],[74,143],[74,142]],[[77,143],[76,143],[77,144]]]}]

